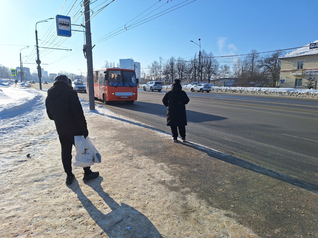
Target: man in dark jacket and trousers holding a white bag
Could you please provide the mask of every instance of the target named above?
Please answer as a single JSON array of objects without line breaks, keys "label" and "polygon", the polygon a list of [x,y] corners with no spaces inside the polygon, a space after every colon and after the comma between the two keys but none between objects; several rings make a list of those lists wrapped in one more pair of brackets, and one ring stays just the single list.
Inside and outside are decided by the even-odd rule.
[{"label": "man in dark jacket and trousers holding a white bag", "polygon": [[[47,116],[54,120],[61,143],[61,157],[66,173],[66,184],[72,184],[75,175],[72,173],[72,147],[74,136],[88,136],[87,123],[77,93],[69,84],[66,75],[55,77],[53,86],[47,91],[45,99]],[[87,182],[99,176],[90,167],[84,169],[83,181]]]}]

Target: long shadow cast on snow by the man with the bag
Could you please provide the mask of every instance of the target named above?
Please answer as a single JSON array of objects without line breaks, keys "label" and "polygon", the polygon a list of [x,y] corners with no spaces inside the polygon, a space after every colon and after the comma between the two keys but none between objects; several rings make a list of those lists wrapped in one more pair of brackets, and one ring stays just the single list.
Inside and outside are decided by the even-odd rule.
[{"label": "long shadow cast on snow by the man with the bag", "polygon": [[[108,212],[105,211],[105,213],[103,213],[96,208],[86,195],[84,195],[76,179],[70,188],[77,194],[79,201],[96,224],[103,230],[103,233],[109,237],[116,238],[162,238],[162,235],[145,215],[125,203],[118,204],[114,201],[114,199],[103,190],[101,186],[102,181],[103,178],[98,177],[93,181],[86,182],[86,185],[98,193],[111,209],[110,212],[109,209],[107,209]],[[130,228],[130,230],[128,228]]]}]

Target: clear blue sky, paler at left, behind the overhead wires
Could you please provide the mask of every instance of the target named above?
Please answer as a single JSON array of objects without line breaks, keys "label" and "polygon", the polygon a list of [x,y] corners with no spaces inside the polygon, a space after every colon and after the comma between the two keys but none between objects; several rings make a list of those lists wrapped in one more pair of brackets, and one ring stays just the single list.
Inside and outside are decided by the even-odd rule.
[{"label": "clear blue sky, paler at left, behind the overhead wires", "polygon": [[[91,1],[92,41],[96,44],[93,48],[94,69],[100,69],[104,61],[117,64],[119,59],[126,58],[140,62],[142,71],[160,56],[165,60],[171,56],[189,60],[199,51],[199,46],[190,40],[199,44],[199,38],[201,50],[212,52],[214,56],[247,54],[252,49],[258,52],[289,49],[318,39],[314,10],[317,0],[111,1]],[[72,37],[63,37],[55,32],[57,14],[74,18],[72,24],[83,23],[82,2],[0,0],[0,64],[10,68],[20,66],[20,50],[30,46],[21,50],[21,56],[27,56],[22,61],[24,67],[36,70],[36,64],[27,64],[36,60],[35,24],[52,17],[53,20],[37,24],[39,46],[72,51],[40,48],[41,67],[48,73],[63,70],[80,74],[82,70],[86,74],[82,51],[84,33],[74,32]],[[96,14],[107,3],[110,4]],[[127,30],[124,30],[125,24]],[[130,24],[134,25],[129,27]],[[72,30],[76,29],[77,26],[72,26]],[[110,36],[111,32],[120,34]],[[220,59],[220,62],[227,61]]]}]

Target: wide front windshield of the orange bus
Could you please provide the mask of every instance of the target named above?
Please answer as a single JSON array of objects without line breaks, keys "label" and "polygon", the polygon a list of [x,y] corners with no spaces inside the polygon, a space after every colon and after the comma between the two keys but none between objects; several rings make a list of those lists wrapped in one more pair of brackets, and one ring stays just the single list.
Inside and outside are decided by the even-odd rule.
[{"label": "wide front windshield of the orange bus", "polygon": [[115,87],[136,87],[136,75],[133,71],[110,70],[108,71],[108,85]]}]

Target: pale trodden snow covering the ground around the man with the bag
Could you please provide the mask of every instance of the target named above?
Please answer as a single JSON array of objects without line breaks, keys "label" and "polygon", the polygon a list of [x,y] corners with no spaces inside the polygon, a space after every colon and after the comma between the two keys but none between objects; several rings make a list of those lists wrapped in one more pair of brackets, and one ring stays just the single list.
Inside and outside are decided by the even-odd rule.
[{"label": "pale trodden snow covering the ground around the man with the bag", "polygon": [[[167,193],[180,186],[168,166],[130,148],[131,141],[113,139],[123,131],[152,134],[156,141],[170,141],[170,135],[149,133],[102,106],[89,110],[81,98],[89,136],[98,135],[102,163],[92,170],[100,177],[84,184],[82,168],[73,167],[76,179],[66,186],[46,91],[28,86],[0,81],[0,237],[258,237],[235,220],[237,214],[211,207],[189,188]],[[112,127],[100,133],[103,124]]]}]

